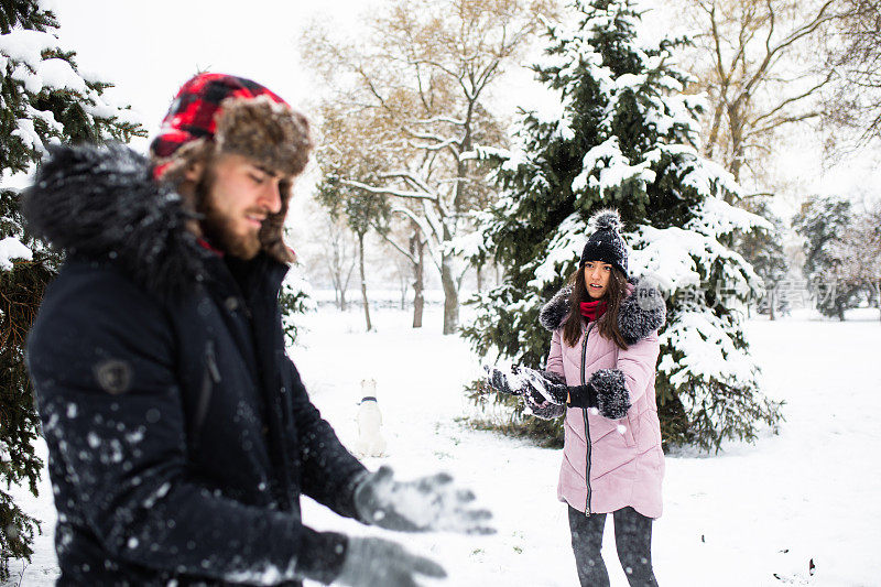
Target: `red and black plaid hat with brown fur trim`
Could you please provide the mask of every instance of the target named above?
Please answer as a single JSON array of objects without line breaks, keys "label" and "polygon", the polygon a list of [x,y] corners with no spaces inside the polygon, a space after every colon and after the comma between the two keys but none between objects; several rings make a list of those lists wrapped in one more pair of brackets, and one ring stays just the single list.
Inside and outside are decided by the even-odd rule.
[{"label": "red and black plaid hat with brown fur trim", "polygon": [[[233,128],[222,132],[220,119],[231,104],[240,101],[253,105],[261,102],[263,111],[238,117],[233,123],[227,124]],[[262,128],[239,128],[249,122],[252,126],[257,122]],[[273,126],[279,128],[271,128]],[[239,140],[229,140],[230,137],[227,135],[233,132]],[[249,132],[255,137],[242,141],[243,135]],[[153,175],[156,178],[162,177],[174,163],[175,153],[183,145],[197,140],[215,142],[218,150],[239,152],[262,160],[283,173],[293,171],[294,175],[302,171],[302,166],[293,164],[294,169],[289,169],[292,160],[302,159],[305,165],[305,159],[312,149],[305,118],[294,112],[275,93],[243,77],[211,73],[199,74],[189,79],[175,96],[162,121],[159,135],[150,144],[150,153],[155,162]],[[224,149],[224,143],[230,144]],[[279,148],[282,152],[278,152]]]}]

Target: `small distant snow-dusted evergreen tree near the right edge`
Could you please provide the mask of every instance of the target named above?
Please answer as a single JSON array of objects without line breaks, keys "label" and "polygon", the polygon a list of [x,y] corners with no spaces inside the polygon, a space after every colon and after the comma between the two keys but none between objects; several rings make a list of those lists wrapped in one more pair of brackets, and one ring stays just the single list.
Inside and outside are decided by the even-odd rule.
[{"label": "small distant snow-dusted evergreen tree near the right edge", "polygon": [[845,319],[845,311],[859,305],[860,284],[842,272],[846,235],[855,218],[850,202],[835,196],[813,196],[802,204],[792,226],[805,239],[807,280],[817,309],[827,317]]}]

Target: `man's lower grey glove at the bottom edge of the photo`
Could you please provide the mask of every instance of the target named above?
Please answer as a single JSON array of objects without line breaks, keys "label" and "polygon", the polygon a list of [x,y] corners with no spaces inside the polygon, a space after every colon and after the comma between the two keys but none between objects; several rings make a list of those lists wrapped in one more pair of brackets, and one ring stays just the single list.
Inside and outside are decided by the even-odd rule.
[{"label": "man's lower grey glove at the bottom edge of the photo", "polygon": [[444,578],[444,568],[382,539],[350,537],[335,583],[351,587],[416,587],[416,576]]}]

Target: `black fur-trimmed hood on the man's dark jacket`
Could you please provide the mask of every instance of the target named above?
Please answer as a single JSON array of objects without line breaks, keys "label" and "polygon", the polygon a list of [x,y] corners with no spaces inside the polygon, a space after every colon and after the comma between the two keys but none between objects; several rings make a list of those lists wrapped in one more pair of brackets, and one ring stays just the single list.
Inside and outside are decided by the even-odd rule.
[{"label": "black fur-trimmed hood on the man's dark jacket", "polygon": [[120,267],[166,300],[204,280],[214,254],[187,230],[193,216],[181,196],[121,144],[52,146],[22,210],[34,236],[73,258]]}]

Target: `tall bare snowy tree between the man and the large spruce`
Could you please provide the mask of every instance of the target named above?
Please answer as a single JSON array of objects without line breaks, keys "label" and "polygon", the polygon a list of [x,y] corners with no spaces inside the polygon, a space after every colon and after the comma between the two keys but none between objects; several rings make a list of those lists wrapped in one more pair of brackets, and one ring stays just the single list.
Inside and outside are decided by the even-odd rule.
[{"label": "tall bare snowy tree between the man and the large spruce", "polygon": [[418,228],[440,272],[444,334],[457,330],[467,267],[450,243],[488,197],[479,163],[468,154],[477,144],[504,141],[485,107],[489,89],[537,28],[539,14],[554,7],[553,0],[395,0],[357,44],[317,26],[304,36],[306,63],[338,90],[336,113],[367,121],[363,134],[346,138],[360,140],[351,153],[378,162],[356,165],[368,172],[361,177],[338,169],[340,181],[389,198],[392,213]]}]

